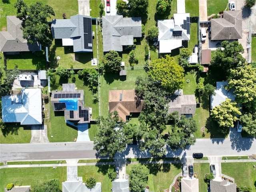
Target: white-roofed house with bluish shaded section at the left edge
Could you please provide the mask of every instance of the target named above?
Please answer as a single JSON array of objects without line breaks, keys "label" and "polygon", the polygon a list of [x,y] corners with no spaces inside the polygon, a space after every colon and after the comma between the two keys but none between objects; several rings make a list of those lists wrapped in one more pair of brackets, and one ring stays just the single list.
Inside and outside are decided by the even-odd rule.
[{"label": "white-roofed house with bluish shaded section at the left edge", "polygon": [[21,125],[42,124],[41,89],[22,89],[20,95],[2,97],[2,120]]}]

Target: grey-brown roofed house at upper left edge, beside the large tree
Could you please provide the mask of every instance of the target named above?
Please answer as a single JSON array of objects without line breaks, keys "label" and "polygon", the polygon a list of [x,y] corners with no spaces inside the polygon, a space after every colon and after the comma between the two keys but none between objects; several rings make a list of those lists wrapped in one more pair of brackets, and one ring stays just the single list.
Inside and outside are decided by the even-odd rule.
[{"label": "grey-brown roofed house at upper left edge, beside the large tree", "polygon": [[0,32],[0,51],[4,54],[14,54],[25,51],[40,51],[41,44],[36,42],[32,45],[23,38],[21,28],[22,21],[16,16],[6,16],[7,31]]}]

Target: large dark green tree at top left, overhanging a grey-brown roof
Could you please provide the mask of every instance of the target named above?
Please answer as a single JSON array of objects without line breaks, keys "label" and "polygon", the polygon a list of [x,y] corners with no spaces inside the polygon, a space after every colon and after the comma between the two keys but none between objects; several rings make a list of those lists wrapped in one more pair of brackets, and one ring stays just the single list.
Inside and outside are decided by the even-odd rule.
[{"label": "large dark green tree at top left, overhanging a grey-brown roof", "polygon": [[17,18],[22,20],[23,38],[30,44],[40,43],[43,47],[51,46],[50,27],[47,18],[55,16],[54,10],[48,5],[36,2],[27,6],[23,0],[17,0]]}]

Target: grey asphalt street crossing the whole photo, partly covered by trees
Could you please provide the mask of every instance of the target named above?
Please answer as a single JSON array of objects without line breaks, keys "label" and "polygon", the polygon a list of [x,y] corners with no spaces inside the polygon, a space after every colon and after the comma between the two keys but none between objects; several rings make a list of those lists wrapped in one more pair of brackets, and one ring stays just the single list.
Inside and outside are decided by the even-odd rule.
[{"label": "grey asphalt street crossing the whole photo, partly covered by trees", "polygon": [[[183,160],[194,152],[204,156],[243,156],[256,154],[255,138],[197,139],[196,144],[185,150],[168,149],[167,157],[181,157]],[[140,151],[137,145],[128,145],[116,158],[150,157],[147,151]],[[59,160],[98,158],[93,142],[62,142],[35,144],[0,144],[0,161],[15,160]]]}]

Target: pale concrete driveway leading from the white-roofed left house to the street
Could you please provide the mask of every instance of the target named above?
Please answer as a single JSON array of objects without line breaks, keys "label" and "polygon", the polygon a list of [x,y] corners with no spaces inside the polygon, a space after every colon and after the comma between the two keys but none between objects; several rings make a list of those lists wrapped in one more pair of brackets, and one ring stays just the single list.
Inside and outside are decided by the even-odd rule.
[{"label": "pale concrete driveway leading from the white-roofed left house to the street", "polygon": [[32,125],[30,143],[49,143],[47,125]]}]

